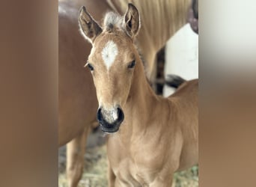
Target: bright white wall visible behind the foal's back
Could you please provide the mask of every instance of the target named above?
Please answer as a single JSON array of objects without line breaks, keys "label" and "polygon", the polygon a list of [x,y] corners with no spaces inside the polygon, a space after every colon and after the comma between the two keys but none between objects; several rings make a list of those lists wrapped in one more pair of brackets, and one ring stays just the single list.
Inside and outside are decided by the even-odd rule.
[{"label": "bright white wall visible behind the foal's back", "polygon": [[[168,40],[165,47],[165,78],[168,74],[175,74],[183,79],[198,78],[198,34],[186,24]],[[168,96],[174,90],[167,86],[163,95]]]}]

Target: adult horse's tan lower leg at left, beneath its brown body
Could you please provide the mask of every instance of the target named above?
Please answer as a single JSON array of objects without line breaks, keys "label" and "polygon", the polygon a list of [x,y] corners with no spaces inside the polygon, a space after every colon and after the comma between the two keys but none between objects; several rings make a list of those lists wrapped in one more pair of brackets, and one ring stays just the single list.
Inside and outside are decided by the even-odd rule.
[{"label": "adult horse's tan lower leg at left, beneath its brown body", "polygon": [[67,180],[69,187],[76,187],[84,168],[85,145],[91,126],[67,144]]}]

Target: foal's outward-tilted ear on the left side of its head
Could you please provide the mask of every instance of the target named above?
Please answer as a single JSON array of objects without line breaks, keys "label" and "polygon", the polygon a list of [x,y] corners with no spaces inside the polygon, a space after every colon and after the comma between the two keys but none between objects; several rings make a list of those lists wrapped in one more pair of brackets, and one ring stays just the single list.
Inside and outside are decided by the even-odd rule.
[{"label": "foal's outward-tilted ear on the left side of its head", "polygon": [[103,31],[100,25],[93,19],[93,17],[88,13],[84,6],[79,10],[79,28],[90,43],[93,43],[95,38]]}]

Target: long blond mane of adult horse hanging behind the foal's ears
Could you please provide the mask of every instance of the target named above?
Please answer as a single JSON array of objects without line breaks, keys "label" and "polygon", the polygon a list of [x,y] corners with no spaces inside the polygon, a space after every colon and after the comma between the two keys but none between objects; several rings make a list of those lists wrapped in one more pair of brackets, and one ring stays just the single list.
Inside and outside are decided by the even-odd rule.
[{"label": "long blond mane of adult horse hanging behind the foal's ears", "polygon": [[[113,10],[125,13],[127,4],[132,3],[138,8],[141,16],[141,29],[147,29],[150,35],[161,34],[153,42],[162,48],[178,29],[186,23],[186,13],[191,0],[107,0]],[[163,19],[164,18],[164,19]],[[168,29],[166,28],[168,25]],[[160,39],[160,40],[159,40]]]}]

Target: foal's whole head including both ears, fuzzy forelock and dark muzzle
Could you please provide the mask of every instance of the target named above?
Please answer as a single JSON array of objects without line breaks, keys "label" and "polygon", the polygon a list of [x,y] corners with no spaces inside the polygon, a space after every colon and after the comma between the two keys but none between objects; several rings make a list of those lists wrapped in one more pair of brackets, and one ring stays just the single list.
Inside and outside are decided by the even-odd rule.
[{"label": "foal's whole head including both ears, fuzzy forelock and dark muzzle", "polygon": [[134,40],[140,28],[136,7],[128,4],[127,13],[107,13],[101,27],[82,7],[79,27],[92,44],[86,66],[91,70],[97,91],[97,120],[104,132],[117,132],[124,120],[122,106],[127,102],[138,52]]}]

